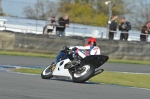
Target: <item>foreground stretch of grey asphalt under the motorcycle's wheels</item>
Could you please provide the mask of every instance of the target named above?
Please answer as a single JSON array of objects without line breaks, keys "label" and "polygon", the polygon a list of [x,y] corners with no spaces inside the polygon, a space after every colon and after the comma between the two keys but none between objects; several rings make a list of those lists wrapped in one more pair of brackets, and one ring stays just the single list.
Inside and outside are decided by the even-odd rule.
[{"label": "foreground stretch of grey asphalt under the motorcycle's wheels", "polygon": [[0,71],[0,99],[149,99],[150,90],[94,83],[43,80]]}]

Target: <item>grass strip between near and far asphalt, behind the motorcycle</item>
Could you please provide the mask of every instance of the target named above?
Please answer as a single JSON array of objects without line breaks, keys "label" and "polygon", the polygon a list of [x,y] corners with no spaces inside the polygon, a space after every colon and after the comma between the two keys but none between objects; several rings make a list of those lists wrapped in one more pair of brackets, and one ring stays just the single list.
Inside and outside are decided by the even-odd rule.
[{"label": "grass strip between near and far asphalt, behind the motorcycle", "polygon": [[[41,74],[43,69],[15,69],[15,72]],[[90,79],[91,82],[150,89],[150,74],[127,74],[104,71]]]}]

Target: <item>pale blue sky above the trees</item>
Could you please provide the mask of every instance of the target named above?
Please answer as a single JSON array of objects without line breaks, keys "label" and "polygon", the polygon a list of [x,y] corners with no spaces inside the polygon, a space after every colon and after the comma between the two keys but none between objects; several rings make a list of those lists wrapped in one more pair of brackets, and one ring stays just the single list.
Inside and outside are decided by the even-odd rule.
[{"label": "pale blue sky above the trees", "polygon": [[[23,8],[28,5],[34,6],[34,4],[37,3],[37,1],[40,0],[2,0],[2,8],[7,15],[25,17],[25,15],[23,14]],[[45,1],[52,1],[58,3],[60,0],[45,0]],[[150,4],[150,0],[125,0],[125,2],[127,2],[127,4],[130,5],[138,4],[139,1],[144,1],[145,3]]]}]

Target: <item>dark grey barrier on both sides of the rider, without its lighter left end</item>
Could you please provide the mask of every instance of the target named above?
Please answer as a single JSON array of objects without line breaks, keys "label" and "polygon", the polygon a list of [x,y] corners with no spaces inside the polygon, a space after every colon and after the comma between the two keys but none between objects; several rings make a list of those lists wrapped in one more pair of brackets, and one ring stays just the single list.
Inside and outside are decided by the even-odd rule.
[{"label": "dark grey barrier on both sides of the rider, without its lighter left end", "polygon": [[[84,45],[87,38],[15,33],[14,50],[54,53],[63,46]],[[102,54],[112,59],[150,60],[150,43],[97,39]]]}]

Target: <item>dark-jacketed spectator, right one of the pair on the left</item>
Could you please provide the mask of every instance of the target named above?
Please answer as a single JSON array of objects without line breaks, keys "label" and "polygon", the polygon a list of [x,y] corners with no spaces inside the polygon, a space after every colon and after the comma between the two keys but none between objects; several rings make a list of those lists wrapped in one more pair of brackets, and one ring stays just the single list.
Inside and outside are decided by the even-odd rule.
[{"label": "dark-jacketed spectator, right one of the pair on the left", "polygon": [[56,31],[58,36],[65,36],[65,28],[69,26],[69,16],[65,14],[58,20],[59,26],[57,26]]}]

